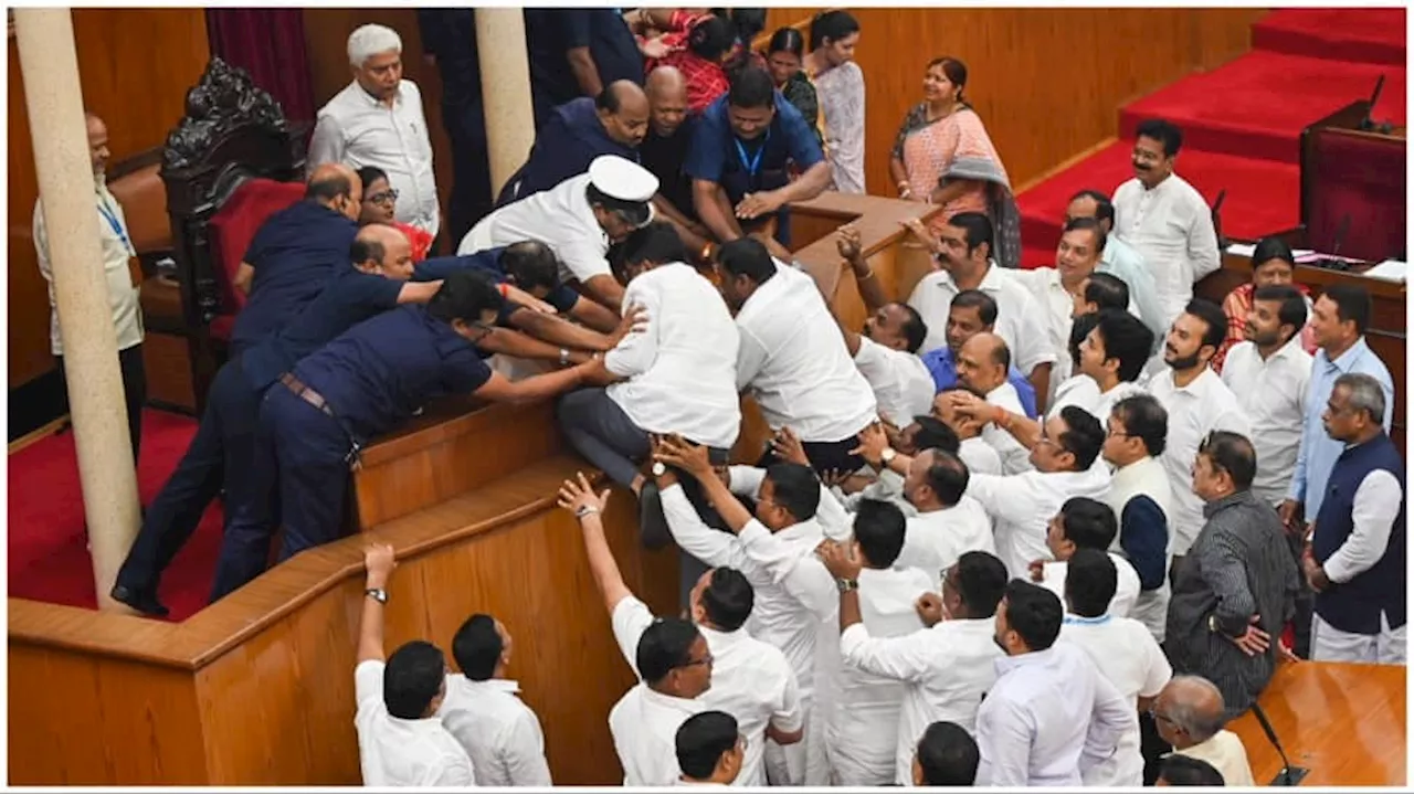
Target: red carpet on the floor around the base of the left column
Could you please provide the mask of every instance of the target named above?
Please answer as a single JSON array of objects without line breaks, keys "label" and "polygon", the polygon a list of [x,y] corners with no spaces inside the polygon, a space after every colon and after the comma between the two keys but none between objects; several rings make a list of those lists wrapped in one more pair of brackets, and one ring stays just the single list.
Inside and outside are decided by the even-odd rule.
[{"label": "red carpet on the floor around the base of the left column", "polygon": [[[143,455],[137,489],[153,500],[177,468],[197,421],[165,411],[143,413]],[[93,609],[93,567],[83,540],[74,434],[62,432],[10,455],[10,595]],[[163,578],[160,598],[171,620],[185,620],[206,606],[221,547],[221,506],[202,516],[191,543]]]}]

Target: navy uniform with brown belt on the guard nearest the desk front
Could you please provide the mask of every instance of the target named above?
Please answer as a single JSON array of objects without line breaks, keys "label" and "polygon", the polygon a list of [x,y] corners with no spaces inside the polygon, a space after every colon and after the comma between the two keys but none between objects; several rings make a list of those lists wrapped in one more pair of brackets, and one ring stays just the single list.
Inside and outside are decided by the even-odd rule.
[{"label": "navy uniform with brown belt on the guard nearest the desk front", "polygon": [[324,398],[328,413],[284,384],[267,390],[260,405],[256,466],[280,473],[280,559],[338,537],[358,448],[434,396],[481,389],[491,369],[426,307],[402,307],[351,328],[293,374]]}]

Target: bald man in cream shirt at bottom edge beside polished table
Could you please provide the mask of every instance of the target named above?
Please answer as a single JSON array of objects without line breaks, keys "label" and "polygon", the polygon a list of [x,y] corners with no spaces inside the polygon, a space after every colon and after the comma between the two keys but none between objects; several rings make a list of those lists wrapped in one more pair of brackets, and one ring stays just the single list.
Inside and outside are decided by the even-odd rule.
[{"label": "bald man in cream shirt at bottom edge beside polished table", "polygon": [[1208,762],[1227,786],[1256,786],[1241,739],[1223,729],[1223,694],[1198,675],[1174,677],[1150,709],[1159,737],[1175,753]]}]

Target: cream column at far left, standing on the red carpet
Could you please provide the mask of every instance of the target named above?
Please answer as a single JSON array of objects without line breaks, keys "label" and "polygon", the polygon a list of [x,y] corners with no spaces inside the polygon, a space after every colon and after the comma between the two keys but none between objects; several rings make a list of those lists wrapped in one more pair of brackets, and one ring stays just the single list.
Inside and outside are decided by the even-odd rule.
[{"label": "cream column at far left, standing on the red carpet", "polygon": [[14,28],[64,335],[93,582],[99,609],[126,610],[107,592],[137,535],[137,472],[93,203],[74,20],[62,7],[17,8]]}]

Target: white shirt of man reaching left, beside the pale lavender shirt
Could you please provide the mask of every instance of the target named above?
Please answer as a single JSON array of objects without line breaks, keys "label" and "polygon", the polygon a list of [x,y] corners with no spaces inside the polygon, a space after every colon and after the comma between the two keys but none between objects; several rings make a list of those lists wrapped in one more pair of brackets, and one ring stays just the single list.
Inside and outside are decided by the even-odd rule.
[{"label": "white shirt of man reaching left, beside the pale lavender shirt", "polygon": [[995,622],[943,620],[902,637],[871,637],[863,623],[840,634],[844,664],[905,682],[894,750],[894,781],[913,784],[913,750],[935,722],[974,732],[977,708],[997,680]]}]

